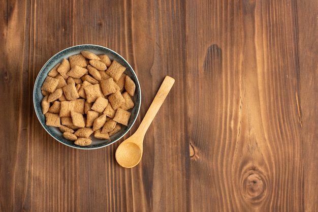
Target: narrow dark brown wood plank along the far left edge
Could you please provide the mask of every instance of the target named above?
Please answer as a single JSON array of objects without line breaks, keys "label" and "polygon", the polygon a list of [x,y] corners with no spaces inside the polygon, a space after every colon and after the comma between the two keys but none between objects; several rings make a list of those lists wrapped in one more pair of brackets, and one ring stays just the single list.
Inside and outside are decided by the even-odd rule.
[{"label": "narrow dark brown wood plank along the far left edge", "polygon": [[0,83],[0,150],[1,192],[0,210],[17,211],[23,208],[28,183],[29,76],[28,52],[24,49],[26,4],[17,1],[1,2],[2,62]]}]

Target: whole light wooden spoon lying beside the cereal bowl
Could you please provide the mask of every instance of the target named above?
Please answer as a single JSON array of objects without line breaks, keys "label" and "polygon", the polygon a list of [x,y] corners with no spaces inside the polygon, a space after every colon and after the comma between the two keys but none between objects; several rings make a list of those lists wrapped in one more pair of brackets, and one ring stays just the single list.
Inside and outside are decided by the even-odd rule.
[{"label": "whole light wooden spoon lying beside the cereal bowl", "polygon": [[164,103],[174,81],[175,80],[172,77],[165,77],[136,132],[118,146],[115,157],[120,166],[124,168],[132,168],[140,162],[145,134],[154,116]]}]

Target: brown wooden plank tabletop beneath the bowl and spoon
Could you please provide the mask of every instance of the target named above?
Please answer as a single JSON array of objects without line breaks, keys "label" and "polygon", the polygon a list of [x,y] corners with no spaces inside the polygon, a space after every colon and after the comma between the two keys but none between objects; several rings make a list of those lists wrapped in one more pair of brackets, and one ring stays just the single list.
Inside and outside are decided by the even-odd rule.
[{"label": "brown wooden plank tabletop beneath the bowl and spoon", "polygon": [[[318,211],[318,2],[1,1],[0,211]],[[33,85],[56,52],[97,44],[135,69],[136,131],[176,82],[141,163],[120,142],[65,146]]]}]

